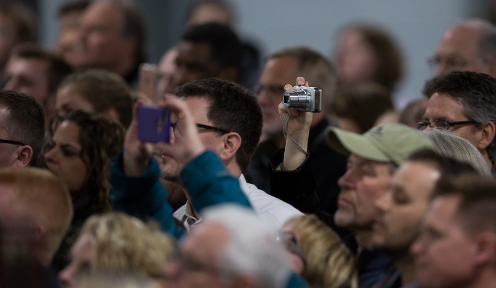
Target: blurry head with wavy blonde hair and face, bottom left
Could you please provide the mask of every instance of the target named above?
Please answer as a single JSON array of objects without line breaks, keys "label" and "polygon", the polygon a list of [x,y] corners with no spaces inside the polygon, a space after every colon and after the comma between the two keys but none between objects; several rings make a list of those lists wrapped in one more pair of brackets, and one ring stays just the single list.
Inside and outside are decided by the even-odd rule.
[{"label": "blurry head with wavy blonde hair and face, bottom left", "polygon": [[172,240],[158,227],[123,213],[94,215],[84,223],[59,278],[64,288],[88,269],[158,278],[172,254]]}]

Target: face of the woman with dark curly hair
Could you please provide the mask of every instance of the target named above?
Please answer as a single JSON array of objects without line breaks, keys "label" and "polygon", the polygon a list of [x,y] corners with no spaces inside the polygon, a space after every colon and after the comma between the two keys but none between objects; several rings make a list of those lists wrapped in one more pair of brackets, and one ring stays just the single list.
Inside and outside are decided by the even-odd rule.
[{"label": "face of the woman with dark curly hair", "polygon": [[72,194],[80,193],[86,180],[86,165],[81,158],[79,126],[62,121],[45,149],[48,169],[64,182]]}]

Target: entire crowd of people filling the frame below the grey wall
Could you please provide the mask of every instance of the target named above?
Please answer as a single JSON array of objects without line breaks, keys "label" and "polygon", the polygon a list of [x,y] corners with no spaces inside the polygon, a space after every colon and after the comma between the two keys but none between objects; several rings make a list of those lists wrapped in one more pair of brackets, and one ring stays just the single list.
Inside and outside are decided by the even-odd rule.
[{"label": "entire crowd of people filling the frame below the grey wall", "polygon": [[[1,288],[496,287],[490,22],[448,29],[397,110],[401,51],[372,24],[335,61],[260,66],[229,3],[196,0],[154,66],[132,1],[63,4],[53,50],[33,15],[0,2]],[[283,103],[296,86],[318,113]]]}]

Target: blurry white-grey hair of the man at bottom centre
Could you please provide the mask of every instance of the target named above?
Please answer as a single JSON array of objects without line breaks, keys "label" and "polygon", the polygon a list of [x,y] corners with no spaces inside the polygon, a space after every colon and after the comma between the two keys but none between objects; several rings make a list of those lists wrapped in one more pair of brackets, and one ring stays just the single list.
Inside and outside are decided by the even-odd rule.
[{"label": "blurry white-grey hair of the man at bottom centre", "polygon": [[290,266],[276,230],[236,205],[215,206],[202,211],[202,215],[205,222],[221,224],[229,233],[228,244],[218,259],[221,273],[254,276],[260,288],[286,286]]}]

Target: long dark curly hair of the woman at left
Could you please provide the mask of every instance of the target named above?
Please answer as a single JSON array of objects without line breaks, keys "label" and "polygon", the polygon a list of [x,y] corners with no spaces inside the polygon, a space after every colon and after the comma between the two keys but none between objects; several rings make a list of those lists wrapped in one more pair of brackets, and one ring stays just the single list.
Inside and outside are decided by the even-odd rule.
[{"label": "long dark curly hair of the woman at left", "polygon": [[76,110],[52,120],[50,137],[63,121],[74,122],[79,127],[79,156],[86,166],[83,190],[90,196],[92,212],[110,211],[110,163],[124,144],[124,127],[106,117]]}]

